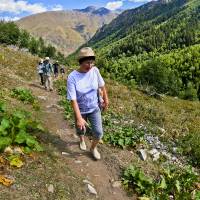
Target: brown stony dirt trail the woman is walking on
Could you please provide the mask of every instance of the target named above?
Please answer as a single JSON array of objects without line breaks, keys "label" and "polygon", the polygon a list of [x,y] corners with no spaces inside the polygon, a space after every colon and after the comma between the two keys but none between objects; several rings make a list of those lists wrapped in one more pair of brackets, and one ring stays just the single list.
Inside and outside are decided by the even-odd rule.
[{"label": "brown stony dirt trail the woman is walking on", "polygon": [[[94,161],[89,152],[90,141],[87,142],[88,151],[82,152],[78,147],[78,138],[73,129],[71,129],[63,118],[63,111],[56,107],[59,96],[56,92],[46,92],[38,83],[30,84],[29,88],[33,91],[34,95],[46,99],[41,100],[41,110],[44,114],[44,124],[48,130],[59,136],[61,141],[57,146],[63,160],[67,162],[69,168],[73,169],[77,175],[83,179],[89,180],[94,184],[98,196],[86,197],[89,199],[102,199],[102,200],[128,200],[134,199],[127,197],[126,193],[121,187],[113,187],[112,181],[119,179],[119,163],[116,156],[109,152],[109,148],[104,145],[100,146],[102,153],[101,161]],[[67,155],[62,155],[66,152]],[[77,197],[78,199],[78,197]]]}]

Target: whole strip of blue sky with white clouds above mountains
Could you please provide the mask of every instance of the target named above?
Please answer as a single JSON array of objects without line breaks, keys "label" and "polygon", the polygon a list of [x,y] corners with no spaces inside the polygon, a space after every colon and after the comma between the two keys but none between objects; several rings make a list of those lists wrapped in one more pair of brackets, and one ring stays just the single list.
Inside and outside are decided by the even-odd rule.
[{"label": "whole strip of blue sky with white clouds above mountains", "polygon": [[0,0],[0,19],[17,20],[21,17],[50,10],[70,10],[87,6],[111,10],[130,9],[152,0]]}]

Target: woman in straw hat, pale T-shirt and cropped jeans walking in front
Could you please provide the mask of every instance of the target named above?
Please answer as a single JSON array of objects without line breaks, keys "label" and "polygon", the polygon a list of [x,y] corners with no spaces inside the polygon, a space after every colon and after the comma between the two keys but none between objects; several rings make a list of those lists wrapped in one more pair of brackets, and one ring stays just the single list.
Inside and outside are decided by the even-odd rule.
[{"label": "woman in straw hat, pale T-shirt and cropped jeans walking in front", "polygon": [[[108,107],[108,96],[105,82],[94,66],[95,54],[90,47],[82,48],[79,52],[79,69],[70,73],[67,80],[67,99],[71,101],[75,113],[77,134],[80,137],[80,149],[86,150],[85,133],[88,131],[88,122],[91,124],[93,141],[91,153],[96,160],[101,159],[97,145],[103,137],[101,109]],[[99,106],[99,89],[103,93],[103,104]]]}]

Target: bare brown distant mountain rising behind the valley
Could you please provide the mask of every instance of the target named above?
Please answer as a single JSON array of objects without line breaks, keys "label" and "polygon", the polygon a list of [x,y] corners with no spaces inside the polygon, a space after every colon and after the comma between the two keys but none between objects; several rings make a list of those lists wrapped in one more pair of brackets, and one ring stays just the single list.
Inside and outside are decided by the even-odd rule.
[{"label": "bare brown distant mountain rising behind the valley", "polygon": [[88,41],[103,24],[117,15],[91,8],[85,11],[52,11],[22,18],[16,23],[68,55]]}]

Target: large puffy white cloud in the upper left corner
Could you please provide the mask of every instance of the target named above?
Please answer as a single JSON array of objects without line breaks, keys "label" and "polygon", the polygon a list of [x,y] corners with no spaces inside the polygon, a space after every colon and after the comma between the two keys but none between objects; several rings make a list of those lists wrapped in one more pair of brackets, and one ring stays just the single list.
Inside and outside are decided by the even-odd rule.
[{"label": "large puffy white cloud in the upper left corner", "polygon": [[28,12],[30,14],[36,14],[45,11],[47,11],[47,8],[41,3],[30,4],[26,0],[0,0],[0,13],[9,12],[20,14],[22,12]]}]

